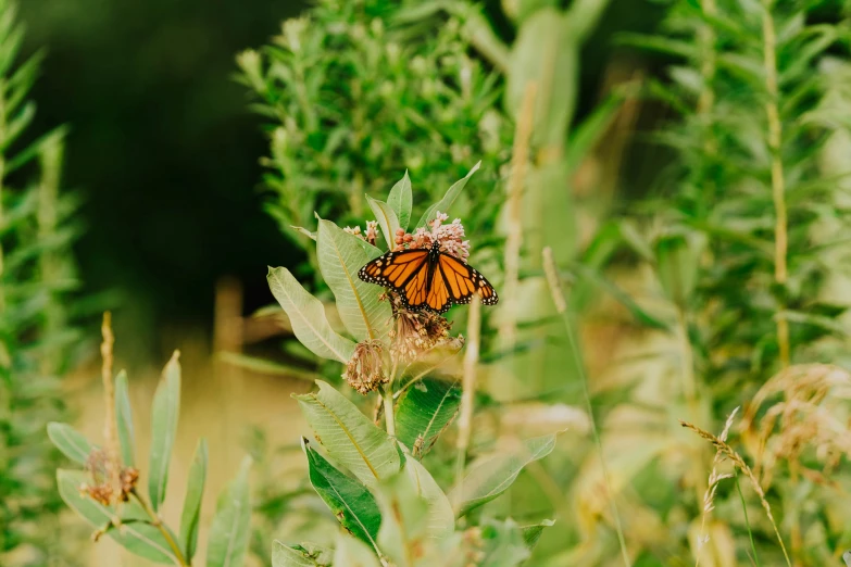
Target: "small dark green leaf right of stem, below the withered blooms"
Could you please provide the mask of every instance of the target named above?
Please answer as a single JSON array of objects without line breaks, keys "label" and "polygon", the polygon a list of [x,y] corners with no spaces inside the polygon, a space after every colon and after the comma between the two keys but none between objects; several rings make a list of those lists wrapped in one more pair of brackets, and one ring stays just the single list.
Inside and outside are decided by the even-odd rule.
[{"label": "small dark green leaf right of stem, below the withered blooms", "polygon": [[[461,404],[461,388],[446,380],[424,379],[409,388],[396,408],[396,437],[422,457],[452,423]],[[417,441],[418,440],[418,441]]]}]

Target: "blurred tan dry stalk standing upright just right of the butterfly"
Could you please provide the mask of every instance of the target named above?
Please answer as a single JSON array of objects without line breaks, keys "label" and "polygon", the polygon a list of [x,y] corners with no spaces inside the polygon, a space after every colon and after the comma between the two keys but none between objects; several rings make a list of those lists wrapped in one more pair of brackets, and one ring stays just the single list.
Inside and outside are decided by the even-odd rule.
[{"label": "blurred tan dry stalk standing upright just right of the butterfly", "polygon": [[529,81],[523,93],[517,128],[514,133],[514,147],[511,155],[511,176],[508,187],[508,238],[505,239],[505,279],[502,286],[504,302],[499,335],[503,344],[511,349],[517,333],[517,288],[520,285],[520,255],[523,244],[523,218],[521,200],[526,182],[526,166],[529,155],[529,138],[535,121],[535,96],[538,84]]}]

